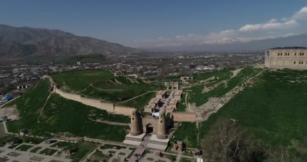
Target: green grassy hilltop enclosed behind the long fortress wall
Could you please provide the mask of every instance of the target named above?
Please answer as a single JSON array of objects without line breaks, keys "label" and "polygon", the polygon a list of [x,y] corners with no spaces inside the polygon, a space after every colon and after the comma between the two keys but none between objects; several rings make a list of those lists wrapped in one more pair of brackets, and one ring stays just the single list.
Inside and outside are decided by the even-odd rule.
[{"label": "green grassy hilltop enclosed behind the long fortress wall", "polygon": [[60,87],[67,87],[72,92],[79,92],[113,103],[161,89],[160,86],[154,84],[145,84],[140,79],[131,81],[124,76],[114,76],[107,70],[78,70],[53,73],[51,76]]}]

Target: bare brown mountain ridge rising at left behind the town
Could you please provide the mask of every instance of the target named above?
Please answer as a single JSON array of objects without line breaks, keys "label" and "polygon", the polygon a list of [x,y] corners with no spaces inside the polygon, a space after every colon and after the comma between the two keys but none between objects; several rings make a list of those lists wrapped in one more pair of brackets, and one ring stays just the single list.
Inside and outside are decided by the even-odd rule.
[{"label": "bare brown mountain ridge rising at left behind the town", "polygon": [[100,39],[52,29],[0,25],[0,57],[139,53]]}]

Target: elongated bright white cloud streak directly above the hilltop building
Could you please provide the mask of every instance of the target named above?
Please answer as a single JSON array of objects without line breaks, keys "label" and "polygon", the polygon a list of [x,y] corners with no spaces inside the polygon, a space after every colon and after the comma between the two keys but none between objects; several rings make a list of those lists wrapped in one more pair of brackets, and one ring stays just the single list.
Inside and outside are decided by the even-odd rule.
[{"label": "elongated bright white cloud streak directly above the hilltop building", "polygon": [[268,22],[264,24],[247,24],[242,26],[238,31],[248,32],[248,31],[257,31],[257,30],[272,30],[272,29],[287,29],[293,28],[298,25],[296,20],[290,20],[287,22]]}]

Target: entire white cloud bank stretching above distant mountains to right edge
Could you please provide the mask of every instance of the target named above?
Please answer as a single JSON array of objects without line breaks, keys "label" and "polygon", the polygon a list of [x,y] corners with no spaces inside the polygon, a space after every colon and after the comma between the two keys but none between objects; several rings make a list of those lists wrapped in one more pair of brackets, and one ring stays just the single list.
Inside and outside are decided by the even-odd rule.
[{"label": "entire white cloud bank stretching above distant mountains to right edge", "polygon": [[271,19],[259,24],[246,24],[239,29],[228,29],[208,34],[177,35],[173,38],[158,37],[155,39],[140,39],[135,41],[138,47],[179,47],[188,45],[224,45],[247,43],[278,37],[288,37],[296,34],[285,33],[282,29],[292,29],[299,25],[299,21],[307,20],[307,7],[301,8],[290,18]]}]

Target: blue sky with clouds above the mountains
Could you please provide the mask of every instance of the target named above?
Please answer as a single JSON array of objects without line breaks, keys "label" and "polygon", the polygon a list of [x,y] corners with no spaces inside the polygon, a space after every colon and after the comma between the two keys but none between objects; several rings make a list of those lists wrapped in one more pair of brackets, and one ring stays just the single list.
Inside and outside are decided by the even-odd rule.
[{"label": "blue sky with clouds above the mountains", "polygon": [[2,1],[0,23],[131,47],[231,44],[307,32],[306,1]]}]

